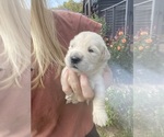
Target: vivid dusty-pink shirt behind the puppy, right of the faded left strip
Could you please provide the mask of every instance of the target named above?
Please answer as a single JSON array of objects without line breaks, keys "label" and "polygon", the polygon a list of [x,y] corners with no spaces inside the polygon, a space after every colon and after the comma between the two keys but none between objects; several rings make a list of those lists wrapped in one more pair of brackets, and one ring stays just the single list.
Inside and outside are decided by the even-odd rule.
[{"label": "vivid dusty-pink shirt behind the puppy, right of the faded left strip", "polygon": [[[55,11],[60,43],[68,47],[82,31],[99,32],[101,24],[80,13]],[[33,137],[85,137],[93,127],[92,104],[66,104],[60,80],[55,79],[55,66],[44,77],[45,88],[32,91]]]}]

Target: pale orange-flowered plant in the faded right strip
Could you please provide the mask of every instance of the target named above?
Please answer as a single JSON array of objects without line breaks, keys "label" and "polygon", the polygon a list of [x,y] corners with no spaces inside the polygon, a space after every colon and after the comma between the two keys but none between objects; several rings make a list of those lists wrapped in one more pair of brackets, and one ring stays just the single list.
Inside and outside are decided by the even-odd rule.
[{"label": "pale orange-flowered plant in the faded right strip", "polygon": [[156,70],[156,66],[161,66],[157,46],[157,36],[152,36],[147,31],[140,31],[133,37],[133,61]]}]

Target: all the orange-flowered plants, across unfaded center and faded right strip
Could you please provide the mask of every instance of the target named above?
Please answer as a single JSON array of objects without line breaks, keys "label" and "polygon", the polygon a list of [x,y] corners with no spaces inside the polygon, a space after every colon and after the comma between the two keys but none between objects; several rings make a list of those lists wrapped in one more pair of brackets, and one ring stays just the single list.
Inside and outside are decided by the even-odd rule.
[{"label": "all the orange-flowered plants, across unfaded center and faded right strip", "polygon": [[104,37],[112,55],[110,60],[119,62],[126,69],[132,67],[132,62],[153,68],[152,61],[157,62],[159,59],[156,37],[152,37],[148,31],[140,31],[133,39],[129,37],[122,31],[118,31],[113,39]]}]

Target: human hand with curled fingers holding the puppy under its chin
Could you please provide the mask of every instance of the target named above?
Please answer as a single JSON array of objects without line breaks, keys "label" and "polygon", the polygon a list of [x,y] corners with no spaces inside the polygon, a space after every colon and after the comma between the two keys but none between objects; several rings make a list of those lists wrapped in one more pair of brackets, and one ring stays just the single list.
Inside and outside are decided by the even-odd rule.
[{"label": "human hand with curled fingers holding the puppy under its chin", "polygon": [[66,93],[67,103],[90,101],[94,96],[87,77],[78,76],[74,71],[65,67],[61,73],[61,87]]}]

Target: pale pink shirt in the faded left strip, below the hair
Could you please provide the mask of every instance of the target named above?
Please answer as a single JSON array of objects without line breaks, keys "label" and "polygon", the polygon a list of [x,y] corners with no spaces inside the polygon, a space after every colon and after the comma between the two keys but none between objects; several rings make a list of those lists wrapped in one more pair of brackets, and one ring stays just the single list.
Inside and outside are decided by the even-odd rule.
[{"label": "pale pink shirt in the faded left strip, below the hair", "polygon": [[[3,48],[0,37],[0,49]],[[0,50],[1,54],[2,50]],[[1,81],[7,78],[11,68],[2,66],[0,57],[0,88]],[[12,85],[0,90],[0,137],[30,137],[31,136],[31,71],[25,70],[21,83],[22,88]]]}]

